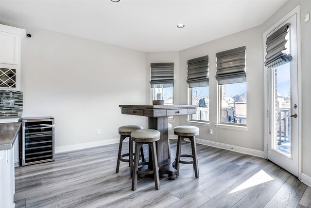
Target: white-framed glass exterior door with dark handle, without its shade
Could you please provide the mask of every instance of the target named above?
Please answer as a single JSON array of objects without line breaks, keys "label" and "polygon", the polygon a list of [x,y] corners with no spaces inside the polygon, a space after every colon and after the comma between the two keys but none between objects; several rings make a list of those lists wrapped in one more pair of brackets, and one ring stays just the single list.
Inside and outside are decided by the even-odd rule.
[{"label": "white-framed glass exterior door with dark handle, without its shade", "polygon": [[[290,23],[288,38],[293,59],[268,68],[269,136],[268,159],[298,176],[298,62],[296,14]],[[282,25],[280,25],[282,26]]]}]

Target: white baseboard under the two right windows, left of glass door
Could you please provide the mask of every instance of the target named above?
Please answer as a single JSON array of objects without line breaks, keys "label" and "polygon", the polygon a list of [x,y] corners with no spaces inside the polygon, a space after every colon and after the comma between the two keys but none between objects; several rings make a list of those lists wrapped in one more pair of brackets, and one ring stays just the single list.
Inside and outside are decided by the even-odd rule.
[{"label": "white baseboard under the two right windows, left of glass door", "polygon": [[[177,139],[177,136],[176,135],[169,135],[169,138],[170,139]],[[221,142],[209,141],[206,139],[200,139],[200,138],[195,138],[195,139],[196,139],[196,143],[198,143],[198,144],[207,145],[207,146],[211,146],[211,147],[217,147],[217,148],[230,150],[230,151],[236,151],[236,152],[240,152],[243,154],[249,154],[249,155],[253,155],[253,156],[261,157],[261,158],[264,157],[263,151],[249,149],[249,148],[245,148],[245,147],[239,147],[239,146],[235,146],[235,145],[229,145],[229,144],[225,144],[225,143],[221,143]]]}]

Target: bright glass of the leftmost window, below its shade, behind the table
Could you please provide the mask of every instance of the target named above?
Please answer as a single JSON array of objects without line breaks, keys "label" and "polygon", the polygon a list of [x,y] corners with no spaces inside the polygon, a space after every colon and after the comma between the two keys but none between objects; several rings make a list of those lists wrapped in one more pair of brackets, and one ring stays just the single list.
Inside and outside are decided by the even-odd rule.
[{"label": "bright glass of the leftmost window, below its shade, behind the table", "polygon": [[164,100],[164,105],[173,105],[173,87],[163,87],[163,84],[155,84],[152,88],[153,100]]}]

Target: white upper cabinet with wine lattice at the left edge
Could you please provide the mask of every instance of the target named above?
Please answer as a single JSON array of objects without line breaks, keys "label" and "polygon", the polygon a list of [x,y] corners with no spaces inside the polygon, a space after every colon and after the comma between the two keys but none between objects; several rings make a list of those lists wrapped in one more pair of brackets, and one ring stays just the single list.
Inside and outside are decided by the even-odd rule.
[{"label": "white upper cabinet with wine lattice at the left edge", "polygon": [[20,43],[26,30],[0,24],[0,90],[20,90]]}]

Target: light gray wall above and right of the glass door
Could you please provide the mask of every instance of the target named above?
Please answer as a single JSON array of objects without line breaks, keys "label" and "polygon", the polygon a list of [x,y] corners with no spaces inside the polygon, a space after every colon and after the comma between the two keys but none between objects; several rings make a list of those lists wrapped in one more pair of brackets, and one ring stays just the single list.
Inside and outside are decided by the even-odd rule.
[{"label": "light gray wall above and right of the glass door", "polygon": [[303,18],[307,13],[311,13],[310,0],[290,0],[285,3],[272,17],[270,17],[262,26],[263,32],[272,27],[279,19],[282,19],[286,14],[292,11],[297,5],[300,5],[301,11],[301,72],[302,72],[302,172],[311,176],[311,21],[304,22]]}]

